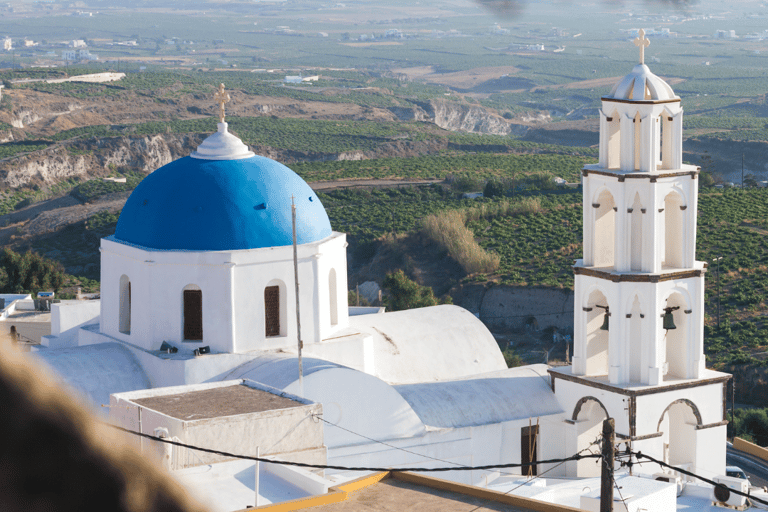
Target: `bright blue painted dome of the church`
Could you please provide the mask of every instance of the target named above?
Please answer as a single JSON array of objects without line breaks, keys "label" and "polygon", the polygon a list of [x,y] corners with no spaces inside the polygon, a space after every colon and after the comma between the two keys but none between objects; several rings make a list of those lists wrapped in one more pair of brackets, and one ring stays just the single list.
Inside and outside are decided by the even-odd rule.
[{"label": "bright blue painted dome of the church", "polygon": [[184,157],[144,178],[125,203],[115,238],[161,250],[227,251],[291,245],[291,196],[299,244],[331,235],[315,192],[261,156]]}]

